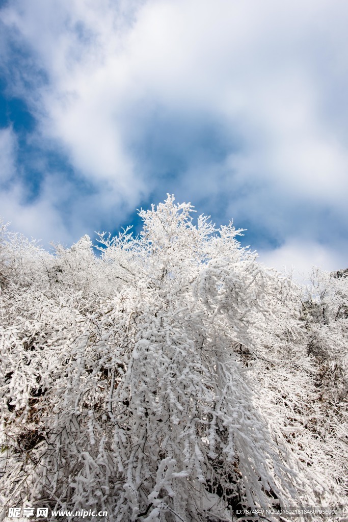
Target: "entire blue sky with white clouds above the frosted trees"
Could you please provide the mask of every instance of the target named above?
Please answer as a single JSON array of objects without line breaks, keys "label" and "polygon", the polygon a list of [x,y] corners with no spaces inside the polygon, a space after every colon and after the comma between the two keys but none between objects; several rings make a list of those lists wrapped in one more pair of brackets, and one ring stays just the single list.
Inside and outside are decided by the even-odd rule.
[{"label": "entire blue sky with white clouds above the frosted trees", "polygon": [[44,244],[173,193],[277,268],[348,266],[346,0],[11,0],[0,215]]}]

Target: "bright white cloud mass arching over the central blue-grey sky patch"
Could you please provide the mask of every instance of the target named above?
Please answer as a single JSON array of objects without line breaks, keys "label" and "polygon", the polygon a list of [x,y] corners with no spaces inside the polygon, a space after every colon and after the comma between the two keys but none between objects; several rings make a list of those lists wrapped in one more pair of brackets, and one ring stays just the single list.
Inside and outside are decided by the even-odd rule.
[{"label": "bright white cloud mass arching over the central blue-grey sky patch", "polygon": [[20,14],[7,11],[7,23],[25,35],[51,79],[39,100],[44,132],[63,141],[85,175],[116,180],[125,193],[135,186],[124,120],[139,100],[216,113],[237,126],[248,159],[236,162],[242,175],[282,176],[316,196],[313,180],[326,195],[328,180],[347,174],[346,143],[318,117],[330,86],[313,70],[318,33],[331,55],[341,51],[345,28],[331,2],[150,1],[128,28],[117,28],[119,10],[107,3],[19,5]]}]

